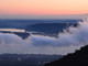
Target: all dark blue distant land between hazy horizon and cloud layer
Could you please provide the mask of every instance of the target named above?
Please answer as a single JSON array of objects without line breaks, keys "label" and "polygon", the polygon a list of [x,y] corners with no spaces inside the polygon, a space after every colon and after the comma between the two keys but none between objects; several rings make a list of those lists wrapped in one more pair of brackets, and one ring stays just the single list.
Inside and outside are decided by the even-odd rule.
[{"label": "all dark blue distant land between hazy horizon and cloud layer", "polygon": [[[82,20],[0,20],[0,29],[24,30],[24,33],[12,32],[23,40],[28,38],[30,33],[57,37],[58,33],[70,25],[77,26],[79,21],[82,22]],[[0,33],[11,32],[0,31]]]}]

